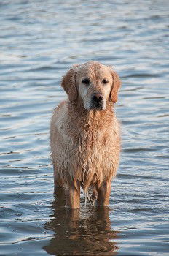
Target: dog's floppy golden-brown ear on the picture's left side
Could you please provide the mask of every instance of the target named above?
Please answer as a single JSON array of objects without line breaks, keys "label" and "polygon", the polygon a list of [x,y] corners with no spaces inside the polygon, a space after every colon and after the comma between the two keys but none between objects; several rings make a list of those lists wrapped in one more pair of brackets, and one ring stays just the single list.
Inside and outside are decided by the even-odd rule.
[{"label": "dog's floppy golden-brown ear on the picture's left side", "polygon": [[68,94],[68,99],[71,102],[75,102],[77,98],[77,89],[76,89],[76,67],[74,65],[71,69],[68,70],[66,75],[63,76],[61,86]]}]

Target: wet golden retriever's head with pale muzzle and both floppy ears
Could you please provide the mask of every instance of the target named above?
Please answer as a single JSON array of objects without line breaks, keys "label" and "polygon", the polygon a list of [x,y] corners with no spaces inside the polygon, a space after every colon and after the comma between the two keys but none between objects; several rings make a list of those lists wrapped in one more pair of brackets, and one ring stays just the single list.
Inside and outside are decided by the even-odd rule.
[{"label": "wet golden retriever's head with pale muzzle and both floppy ears", "polygon": [[74,65],[63,76],[61,86],[71,102],[79,99],[87,110],[105,110],[107,102],[117,102],[120,84],[111,67],[90,61]]}]

